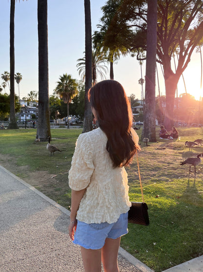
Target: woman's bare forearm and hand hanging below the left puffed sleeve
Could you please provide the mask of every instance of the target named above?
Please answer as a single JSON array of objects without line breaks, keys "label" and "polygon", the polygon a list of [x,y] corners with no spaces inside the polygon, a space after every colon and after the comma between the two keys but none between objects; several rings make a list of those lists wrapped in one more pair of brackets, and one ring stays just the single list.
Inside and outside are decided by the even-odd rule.
[{"label": "woman's bare forearm and hand hanging below the left puffed sleeve", "polygon": [[80,191],[75,191],[75,190],[71,191],[71,213],[70,213],[70,224],[68,227],[68,231],[69,231],[69,236],[72,240],[74,240],[74,233],[77,227],[77,220],[76,220],[77,211],[85,191],[86,191],[86,188]]}]

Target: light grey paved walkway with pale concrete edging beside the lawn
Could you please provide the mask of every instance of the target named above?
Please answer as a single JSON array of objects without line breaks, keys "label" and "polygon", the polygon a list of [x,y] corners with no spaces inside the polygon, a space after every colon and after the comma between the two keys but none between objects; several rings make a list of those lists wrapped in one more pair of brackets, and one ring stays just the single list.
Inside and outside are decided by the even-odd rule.
[{"label": "light grey paved walkway with pale concrete edging beside the lawn", "polygon": [[[70,212],[0,166],[0,272],[83,272]],[[120,272],[153,272],[122,248]],[[203,256],[165,272],[203,272]]]}]

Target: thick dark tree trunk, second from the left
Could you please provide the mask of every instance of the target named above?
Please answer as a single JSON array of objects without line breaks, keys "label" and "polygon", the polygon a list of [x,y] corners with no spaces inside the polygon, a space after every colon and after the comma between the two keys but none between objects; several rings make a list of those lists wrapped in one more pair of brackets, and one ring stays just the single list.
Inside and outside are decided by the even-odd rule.
[{"label": "thick dark tree trunk, second from the left", "polygon": [[48,27],[47,0],[38,0],[38,42],[39,42],[39,104],[38,129],[40,141],[51,137],[49,118],[49,87],[48,87]]}]

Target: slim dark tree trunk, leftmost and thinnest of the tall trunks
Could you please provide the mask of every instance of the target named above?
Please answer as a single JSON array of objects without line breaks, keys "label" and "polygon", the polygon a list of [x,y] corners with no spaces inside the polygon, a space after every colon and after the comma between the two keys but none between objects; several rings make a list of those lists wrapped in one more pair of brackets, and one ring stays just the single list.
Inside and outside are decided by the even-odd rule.
[{"label": "slim dark tree trunk, leftmost and thinnest of the tall trunks", "polygon": [[15,0],[10,9],[10,122],[8,129],[18,129],[15,114],[15,49],[14,49]]}]

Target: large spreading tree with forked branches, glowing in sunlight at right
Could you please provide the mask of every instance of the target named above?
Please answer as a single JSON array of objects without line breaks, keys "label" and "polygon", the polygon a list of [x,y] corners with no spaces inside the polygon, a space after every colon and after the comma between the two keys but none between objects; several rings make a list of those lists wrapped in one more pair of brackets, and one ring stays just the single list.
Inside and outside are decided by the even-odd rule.
[{"label": "large spreading tree with forked branches, glowing in sunlight at right", "polygon": [[[109,0],[105,9],[116,14],[114,18],[117,20],[111,19],[115,36],[120,35],[118,24],[120,29],[132,30],[134,35],[128,42],[128,49],[131,52],[137,51],[137,58],[140,59],[139,52],[146,49],[147,1]],[[203,1],[158,0],[157,22],[157,61],[163,67],[166,90],[164,125],[171,127],[177,83],[191,54],[203,39]],[[174,53],[179,55],[176,71],[171,68]]]}]

